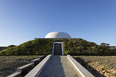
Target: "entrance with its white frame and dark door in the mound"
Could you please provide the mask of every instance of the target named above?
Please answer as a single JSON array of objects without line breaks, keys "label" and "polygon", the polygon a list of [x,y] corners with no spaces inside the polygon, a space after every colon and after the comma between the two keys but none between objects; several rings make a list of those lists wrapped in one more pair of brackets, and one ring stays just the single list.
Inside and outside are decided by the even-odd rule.
[{"label": "entrance with its white frame and dark door in the mound", "polygon": [[53,42],[52,55],[64,55],[62,42]]}]

